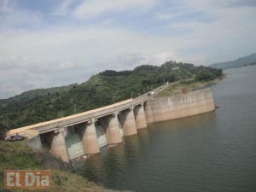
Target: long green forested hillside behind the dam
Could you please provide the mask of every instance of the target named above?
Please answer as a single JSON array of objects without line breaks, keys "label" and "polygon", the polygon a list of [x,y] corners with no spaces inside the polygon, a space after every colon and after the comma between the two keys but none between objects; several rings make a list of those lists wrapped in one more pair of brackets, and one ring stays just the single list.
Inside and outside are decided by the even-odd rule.
[{"label": "long green forested hillside behind the dam", "polygon": [[160,67],[143,65],[132,71],[107,70],[82,84],[31,90],[0,100],[0,129],[13,129],[99,108],[113,103],[113,100],[119,102],[142,95],[166,82],[192,78],[208,81],[221,75],[220,69],[175,61]]}]

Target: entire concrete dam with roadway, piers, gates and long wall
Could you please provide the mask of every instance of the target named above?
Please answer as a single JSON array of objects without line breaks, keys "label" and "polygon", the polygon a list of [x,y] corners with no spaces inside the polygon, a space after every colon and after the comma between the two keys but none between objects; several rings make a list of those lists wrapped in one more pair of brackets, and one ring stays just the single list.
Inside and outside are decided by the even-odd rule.
[{"label": "entire concrete dam with roadway, piers, gates and long wall", "polygon": [[56,157],[69,162],[84,154],[98,154],[103,146],[122,143],[122,137],[136,135],[148,124],[212,110],[214,100],[209,88],[159,98],[145,94],[103,108],[10,130],[7,135],[27,137],[32,148],[48,148]]}]

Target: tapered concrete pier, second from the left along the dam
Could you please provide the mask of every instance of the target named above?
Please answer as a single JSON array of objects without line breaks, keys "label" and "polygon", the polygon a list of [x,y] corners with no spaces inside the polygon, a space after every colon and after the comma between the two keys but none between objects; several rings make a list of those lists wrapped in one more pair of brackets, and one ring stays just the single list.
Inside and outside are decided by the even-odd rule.
[{"label": "tapered concrete pier, second from the left along the dam", "polygon": [[84,124],[82,136],[84,145],[84,154],[98,154],[100,148],[96,135],[95,119],[90,119],[89,123]]}]

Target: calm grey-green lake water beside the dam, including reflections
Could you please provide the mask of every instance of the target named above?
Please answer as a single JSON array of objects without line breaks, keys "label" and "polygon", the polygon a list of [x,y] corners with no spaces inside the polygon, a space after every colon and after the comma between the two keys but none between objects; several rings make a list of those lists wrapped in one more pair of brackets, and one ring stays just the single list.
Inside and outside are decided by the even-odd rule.
[{"label": "calm grey-green lake water beside the dam, including reflections", "polygon": [[219,109],[154,125],[75,167],[109,189],[256,191],[256,66],[224,71]]}]

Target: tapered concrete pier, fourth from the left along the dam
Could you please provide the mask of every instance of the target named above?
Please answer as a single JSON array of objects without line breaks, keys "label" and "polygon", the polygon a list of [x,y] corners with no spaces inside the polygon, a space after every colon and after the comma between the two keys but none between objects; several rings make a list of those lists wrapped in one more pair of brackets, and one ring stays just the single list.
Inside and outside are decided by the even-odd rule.
[{"label": "tapered concrete pier, fourth from the left along the dam", "polygon": [[134,118],[133,108],[129,108],[120,115],[121,125],[125,136],[137,134],[137,125]]}]

